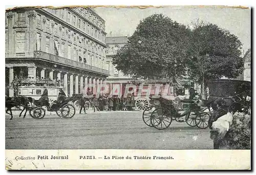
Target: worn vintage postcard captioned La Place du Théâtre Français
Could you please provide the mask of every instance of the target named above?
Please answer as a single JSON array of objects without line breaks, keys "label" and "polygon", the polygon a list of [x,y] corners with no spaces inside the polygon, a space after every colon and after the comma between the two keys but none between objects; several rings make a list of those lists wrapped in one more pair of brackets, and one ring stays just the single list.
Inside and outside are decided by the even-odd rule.
[{"label": "worn vintage postcard captioned La Place du Th\u00e9\u00e2tre Fran\u00e7ais", "polygon": [[250,170],[250,17],[6,9],[6,169]]}]

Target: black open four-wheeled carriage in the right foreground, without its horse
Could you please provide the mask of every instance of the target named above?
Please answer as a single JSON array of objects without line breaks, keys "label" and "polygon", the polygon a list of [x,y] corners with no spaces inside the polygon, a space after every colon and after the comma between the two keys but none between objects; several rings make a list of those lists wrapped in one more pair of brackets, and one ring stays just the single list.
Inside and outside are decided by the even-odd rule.
[{"label": "black open four-wheeled carriage in the right foreground, without its horse", "polygon": [[206,101],[201,102],[198,99],[184,99],[181,108],[177,108],[174,101],[161,96],[150,97],[153,105],[143,112],[143,121],[147,126],[154,127],[159,130],[166,129],[172,123],[186,122],[189,126],[197,126],[200,129],[208,127],[208,119],[210,117],[210,107]]}]

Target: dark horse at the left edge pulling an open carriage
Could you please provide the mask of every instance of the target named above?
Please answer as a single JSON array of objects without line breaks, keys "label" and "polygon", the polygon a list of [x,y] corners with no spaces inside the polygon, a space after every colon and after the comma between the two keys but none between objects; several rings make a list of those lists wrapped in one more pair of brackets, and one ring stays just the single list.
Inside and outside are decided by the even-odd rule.
[{"label": "dark horse at the left edge pulling an open carriage", "polygon": [[[5,107],[7,108],[6,113],[11,115],[10,120],[12,120],[13,115],[12,115],[12,108],[13,107],[23,107],[22,112],[20,112],[19,117],[22,116],[23,111],[25,111],[25,114],[23,118],[26,117],[27,110],[30,108],[29,104],[31,104],[32,98],[31,97],[26,97],[26,96],[18,96],[18,97],[5,97]],[[10,111],[10,113],[8,113]]]}]

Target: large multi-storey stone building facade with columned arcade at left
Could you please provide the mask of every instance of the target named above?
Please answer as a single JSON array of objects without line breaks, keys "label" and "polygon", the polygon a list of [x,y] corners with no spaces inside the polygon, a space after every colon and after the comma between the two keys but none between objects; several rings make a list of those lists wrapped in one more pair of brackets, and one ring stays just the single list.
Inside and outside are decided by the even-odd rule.
[{"label": "large multi-storey stone building facade with columned arcade at left", "polygon": [[[105,21],[91,8],[21,8],[6,12],[6,85],[14,76],[58,79],[66,94],[109,76]],[[13,92],[9,90],[9,96]]]}]

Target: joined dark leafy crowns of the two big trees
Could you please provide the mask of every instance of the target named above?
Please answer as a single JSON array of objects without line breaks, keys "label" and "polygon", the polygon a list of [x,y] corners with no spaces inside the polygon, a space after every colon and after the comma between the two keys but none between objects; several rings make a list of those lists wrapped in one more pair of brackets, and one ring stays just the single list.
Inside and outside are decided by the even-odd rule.
[{"label": "joined dark leafy crowns of the two big trees", "polygon": [[223,76],[235,78],[243,71],[241,41],[215,24],[197,22],[189,29],[154,14],[140,21],[128,39],[113,64],[133,77],[179,77],[188,68],[191,80],[207,83]]}]

